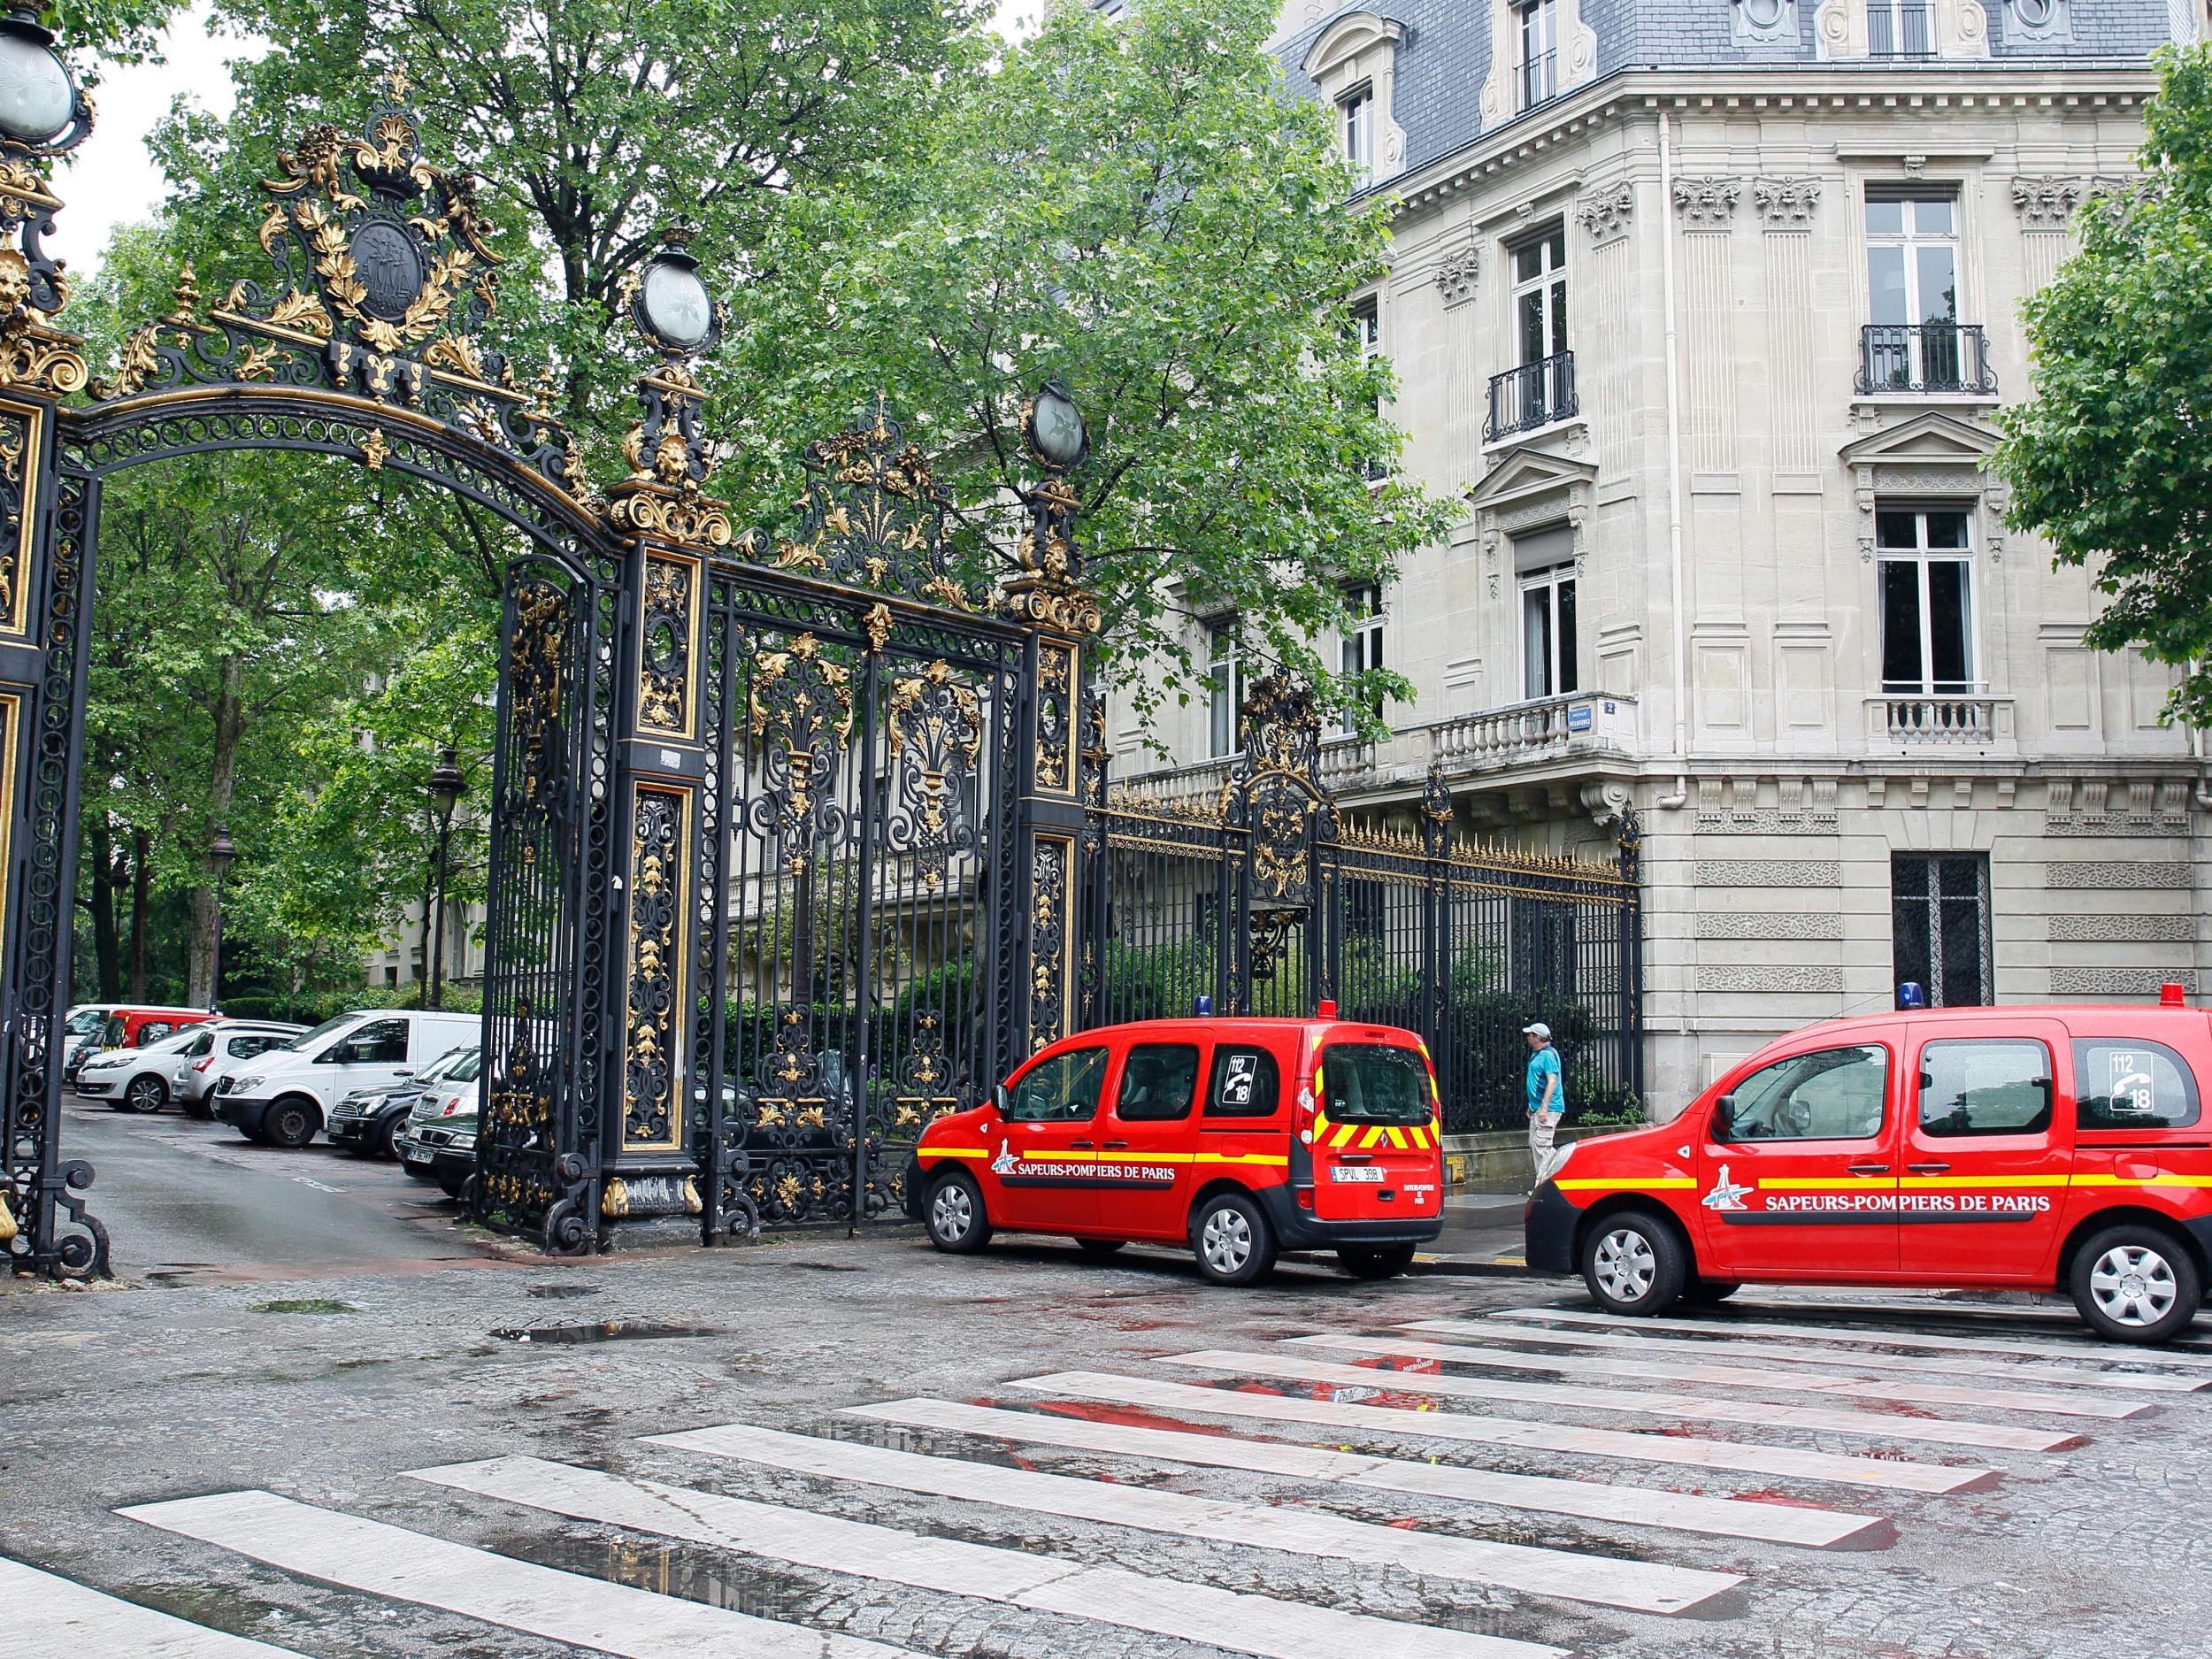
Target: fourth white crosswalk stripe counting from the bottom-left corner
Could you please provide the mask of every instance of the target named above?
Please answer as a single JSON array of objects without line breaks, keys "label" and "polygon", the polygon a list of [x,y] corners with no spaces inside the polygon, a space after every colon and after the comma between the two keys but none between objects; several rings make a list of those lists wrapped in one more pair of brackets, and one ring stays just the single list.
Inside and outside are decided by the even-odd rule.
[{"label": "fourth white crosswalk stripe counting from the bottom-left corner", "polygon": [[1250,1548],[1292,1555],[1325,1555],[1374,1566],[1402,1566],[1473,1584],[1495,1584],[1571,1601],[1635,1608],[1641,1613],[1688,1613],[1701,1601],[1732,1590],[1734,1573],[1621,1562],[1604,1555],[1544,1551],[1526,1544],[1493,1544],[1480,1537],[1402,1531],[1296,1509],[1234,1504],[1190,1498],[1177,1491],[1121,1486],[1033,1469],[929,1458],[849,1440],[781,1433],[730,1422],[714,1429],[653,1436],[650,1444],[703,1451],[717,1458],[792,1469],[832,1480],[858,1480],[896,1491],[925,1491],[982,1504],[1026,1509],[1042,1515],[1137,1526],[1181,1537],[1210,1537]]}]

